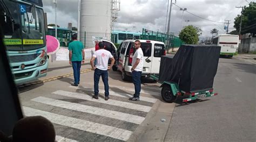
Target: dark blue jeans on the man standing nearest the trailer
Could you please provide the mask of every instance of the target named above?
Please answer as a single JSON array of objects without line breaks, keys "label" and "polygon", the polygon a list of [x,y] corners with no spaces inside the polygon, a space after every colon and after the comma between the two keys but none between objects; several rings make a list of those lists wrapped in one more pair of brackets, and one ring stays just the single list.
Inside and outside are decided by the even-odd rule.
[{"label": "dark blue jeans on the man standing nearest the trailer", "polygon": [[133,70],[132,72],[132,82],[134,84],[134,88],[135,88],[135,94],[133,95],[133,97],[138,97],[139,98],[139,94],[140,94],[140,90],[141,90],[141,81],[140,78],[142,77],[142,72],[136,72],[135,70]]}]

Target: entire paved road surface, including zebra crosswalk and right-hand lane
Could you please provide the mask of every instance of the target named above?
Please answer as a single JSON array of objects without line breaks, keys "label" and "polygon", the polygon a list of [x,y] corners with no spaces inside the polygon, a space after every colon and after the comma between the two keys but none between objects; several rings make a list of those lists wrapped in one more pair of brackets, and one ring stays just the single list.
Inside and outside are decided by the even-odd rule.
[{"label": "entire paved road surface, including zebra crosswalk and right-hand lane", "polygon": [[214,80],[219,95],[188,104],[165,103],[159,84],[147,79],[141,101],[130,102],[133,84],[112,70],[110,100],[93,100],[93,72],[81,75],[79,87],[70,86],[72,75],[55,77],[72,73],[65,61],[50,62],[41,79],[46,82],[20,87],[19,97],[25,116],[52,121],[58,141],[256,141],[256,67],[238,59],[220,59]]}]

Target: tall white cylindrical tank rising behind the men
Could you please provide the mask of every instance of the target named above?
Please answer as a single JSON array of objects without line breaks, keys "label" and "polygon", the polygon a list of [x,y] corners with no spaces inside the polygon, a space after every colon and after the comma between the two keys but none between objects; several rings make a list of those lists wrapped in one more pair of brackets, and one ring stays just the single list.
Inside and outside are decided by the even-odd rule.
[{"label": "tall white cylindrical tank rising behind the men", "polygon": [[85,48],[95,47],[92,37],[111,40],[111,0],[81,0],[80,41]]}]

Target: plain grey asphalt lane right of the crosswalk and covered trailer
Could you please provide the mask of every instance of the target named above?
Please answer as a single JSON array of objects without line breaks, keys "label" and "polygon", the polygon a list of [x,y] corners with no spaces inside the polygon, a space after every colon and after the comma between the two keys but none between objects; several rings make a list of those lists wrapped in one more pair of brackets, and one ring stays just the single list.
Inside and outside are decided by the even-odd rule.
[{"label": "plain grey asphalt lane right of the crosswalk and covered trailer", "polygon": [[214,80],[219,95],[177,105],[165,141],[255,141],[254,70],[255,65],[221,58]]}]

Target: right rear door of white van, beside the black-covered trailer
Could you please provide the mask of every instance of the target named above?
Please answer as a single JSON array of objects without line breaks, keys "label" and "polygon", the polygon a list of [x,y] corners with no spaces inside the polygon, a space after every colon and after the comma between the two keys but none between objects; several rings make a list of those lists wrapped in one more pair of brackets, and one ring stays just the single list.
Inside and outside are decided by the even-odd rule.
[{"label": "right rear door of white van, beside the black-covered trailer", "polygon": [[159,74],[161,56],[165,55],[165,46],[164,44],[154,44],[153,50],[151,73]]}]

